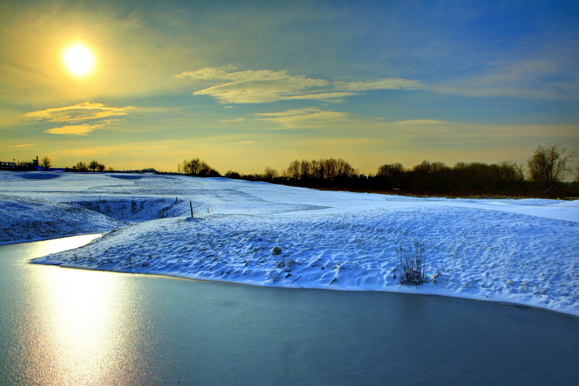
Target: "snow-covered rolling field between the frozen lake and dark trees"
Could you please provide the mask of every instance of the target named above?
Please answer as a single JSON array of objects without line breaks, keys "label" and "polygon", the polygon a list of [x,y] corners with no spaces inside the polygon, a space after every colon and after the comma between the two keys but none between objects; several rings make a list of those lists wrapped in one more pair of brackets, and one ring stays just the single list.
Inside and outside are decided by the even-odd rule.
[{"label": "snow-covered rolling field between the frozen lake and dark trees", "polygon": [[[450,200],[49,172],[0,172],[0,194],[2,242],[105,233],[36,263],[431,293],[579,315],[579,200]],[[432,281],[401,287],[394,248],[415,241],[426,245]]]}]

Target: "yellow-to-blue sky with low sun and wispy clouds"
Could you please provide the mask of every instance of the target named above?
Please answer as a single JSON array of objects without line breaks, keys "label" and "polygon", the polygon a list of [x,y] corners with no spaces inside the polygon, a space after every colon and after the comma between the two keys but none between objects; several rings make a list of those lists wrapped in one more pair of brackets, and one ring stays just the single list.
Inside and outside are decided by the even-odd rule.
[{"label": "yellow-to-blue sky with low sun and wispy clouds", "polygon": [[0,1],[0,160],[525,162],[578,70],[574,1]]}]

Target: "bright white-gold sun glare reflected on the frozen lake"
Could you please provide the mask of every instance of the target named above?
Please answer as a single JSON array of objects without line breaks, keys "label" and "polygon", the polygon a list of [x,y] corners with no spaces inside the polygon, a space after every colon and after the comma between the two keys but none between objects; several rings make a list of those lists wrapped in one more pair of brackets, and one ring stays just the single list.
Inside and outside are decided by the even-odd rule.
[{"label": "bright white-gold sun glare reflected on the frozen lake", "polygon": [[[45,253],[38,253],[46,255],[45,248],[51,252],[75,248],[89,240],[54,240],[40,248]],[[43,369],[42,378],[63,386],[109,384],[111,378],[115,384],[133,384],[135,379],[126,377],[134,367],[134,348],[127,336],[131,307],[119,302],[123,297],[119,274],[46,268],[39,269],[35,278],[36,288],[42,288],[38,302],[43,314],[35,321],[40,324],[38,347],[31,353],[52,364],[50,369]]]}]

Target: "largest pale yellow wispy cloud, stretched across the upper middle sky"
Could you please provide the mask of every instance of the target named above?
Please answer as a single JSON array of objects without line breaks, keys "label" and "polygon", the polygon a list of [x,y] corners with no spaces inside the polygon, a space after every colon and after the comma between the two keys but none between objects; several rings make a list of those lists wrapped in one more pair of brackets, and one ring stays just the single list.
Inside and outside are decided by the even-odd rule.
[{"label": "largest pale yellow wispy cloud, stretched across the upper middle sky", "polygon": [[290,75],[287,71],[233,71],[231,66],[207,67],[175,75],[177,79],[214,84],[193,92],[208,95],[222,104],[268,103],[281,100],[332,101],[369,90],[415,90],[416,80],[386,78],[364,82],[342,82]]}]

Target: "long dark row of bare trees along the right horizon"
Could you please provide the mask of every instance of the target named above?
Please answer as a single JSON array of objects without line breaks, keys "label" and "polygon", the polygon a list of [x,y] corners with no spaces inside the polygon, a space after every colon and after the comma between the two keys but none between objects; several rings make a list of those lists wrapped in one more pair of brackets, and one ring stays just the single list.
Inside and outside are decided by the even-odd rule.
[{"label": "long dark row of bare trees along the right horizon", "polygon": [[[367,176],[346,160],[329,158],[294,160],[281,172],[269,166],[256,174],[229,170],[225,177],[310,188],[394,190],[411,194],[563,197],[579,195],[579,166],[575,181],[563,183],[567,174],[573,174],[571,159],[576,156],[574,151],[549,143],[538,146],[526,164],[505,160],[492,164],[457,162],[448,166],[423,160],[411,168],[401,163],[384,164],[376,174]],[[216,170],[198,158],[182,161],[177,170],[197,177],[219,177]]]}]

